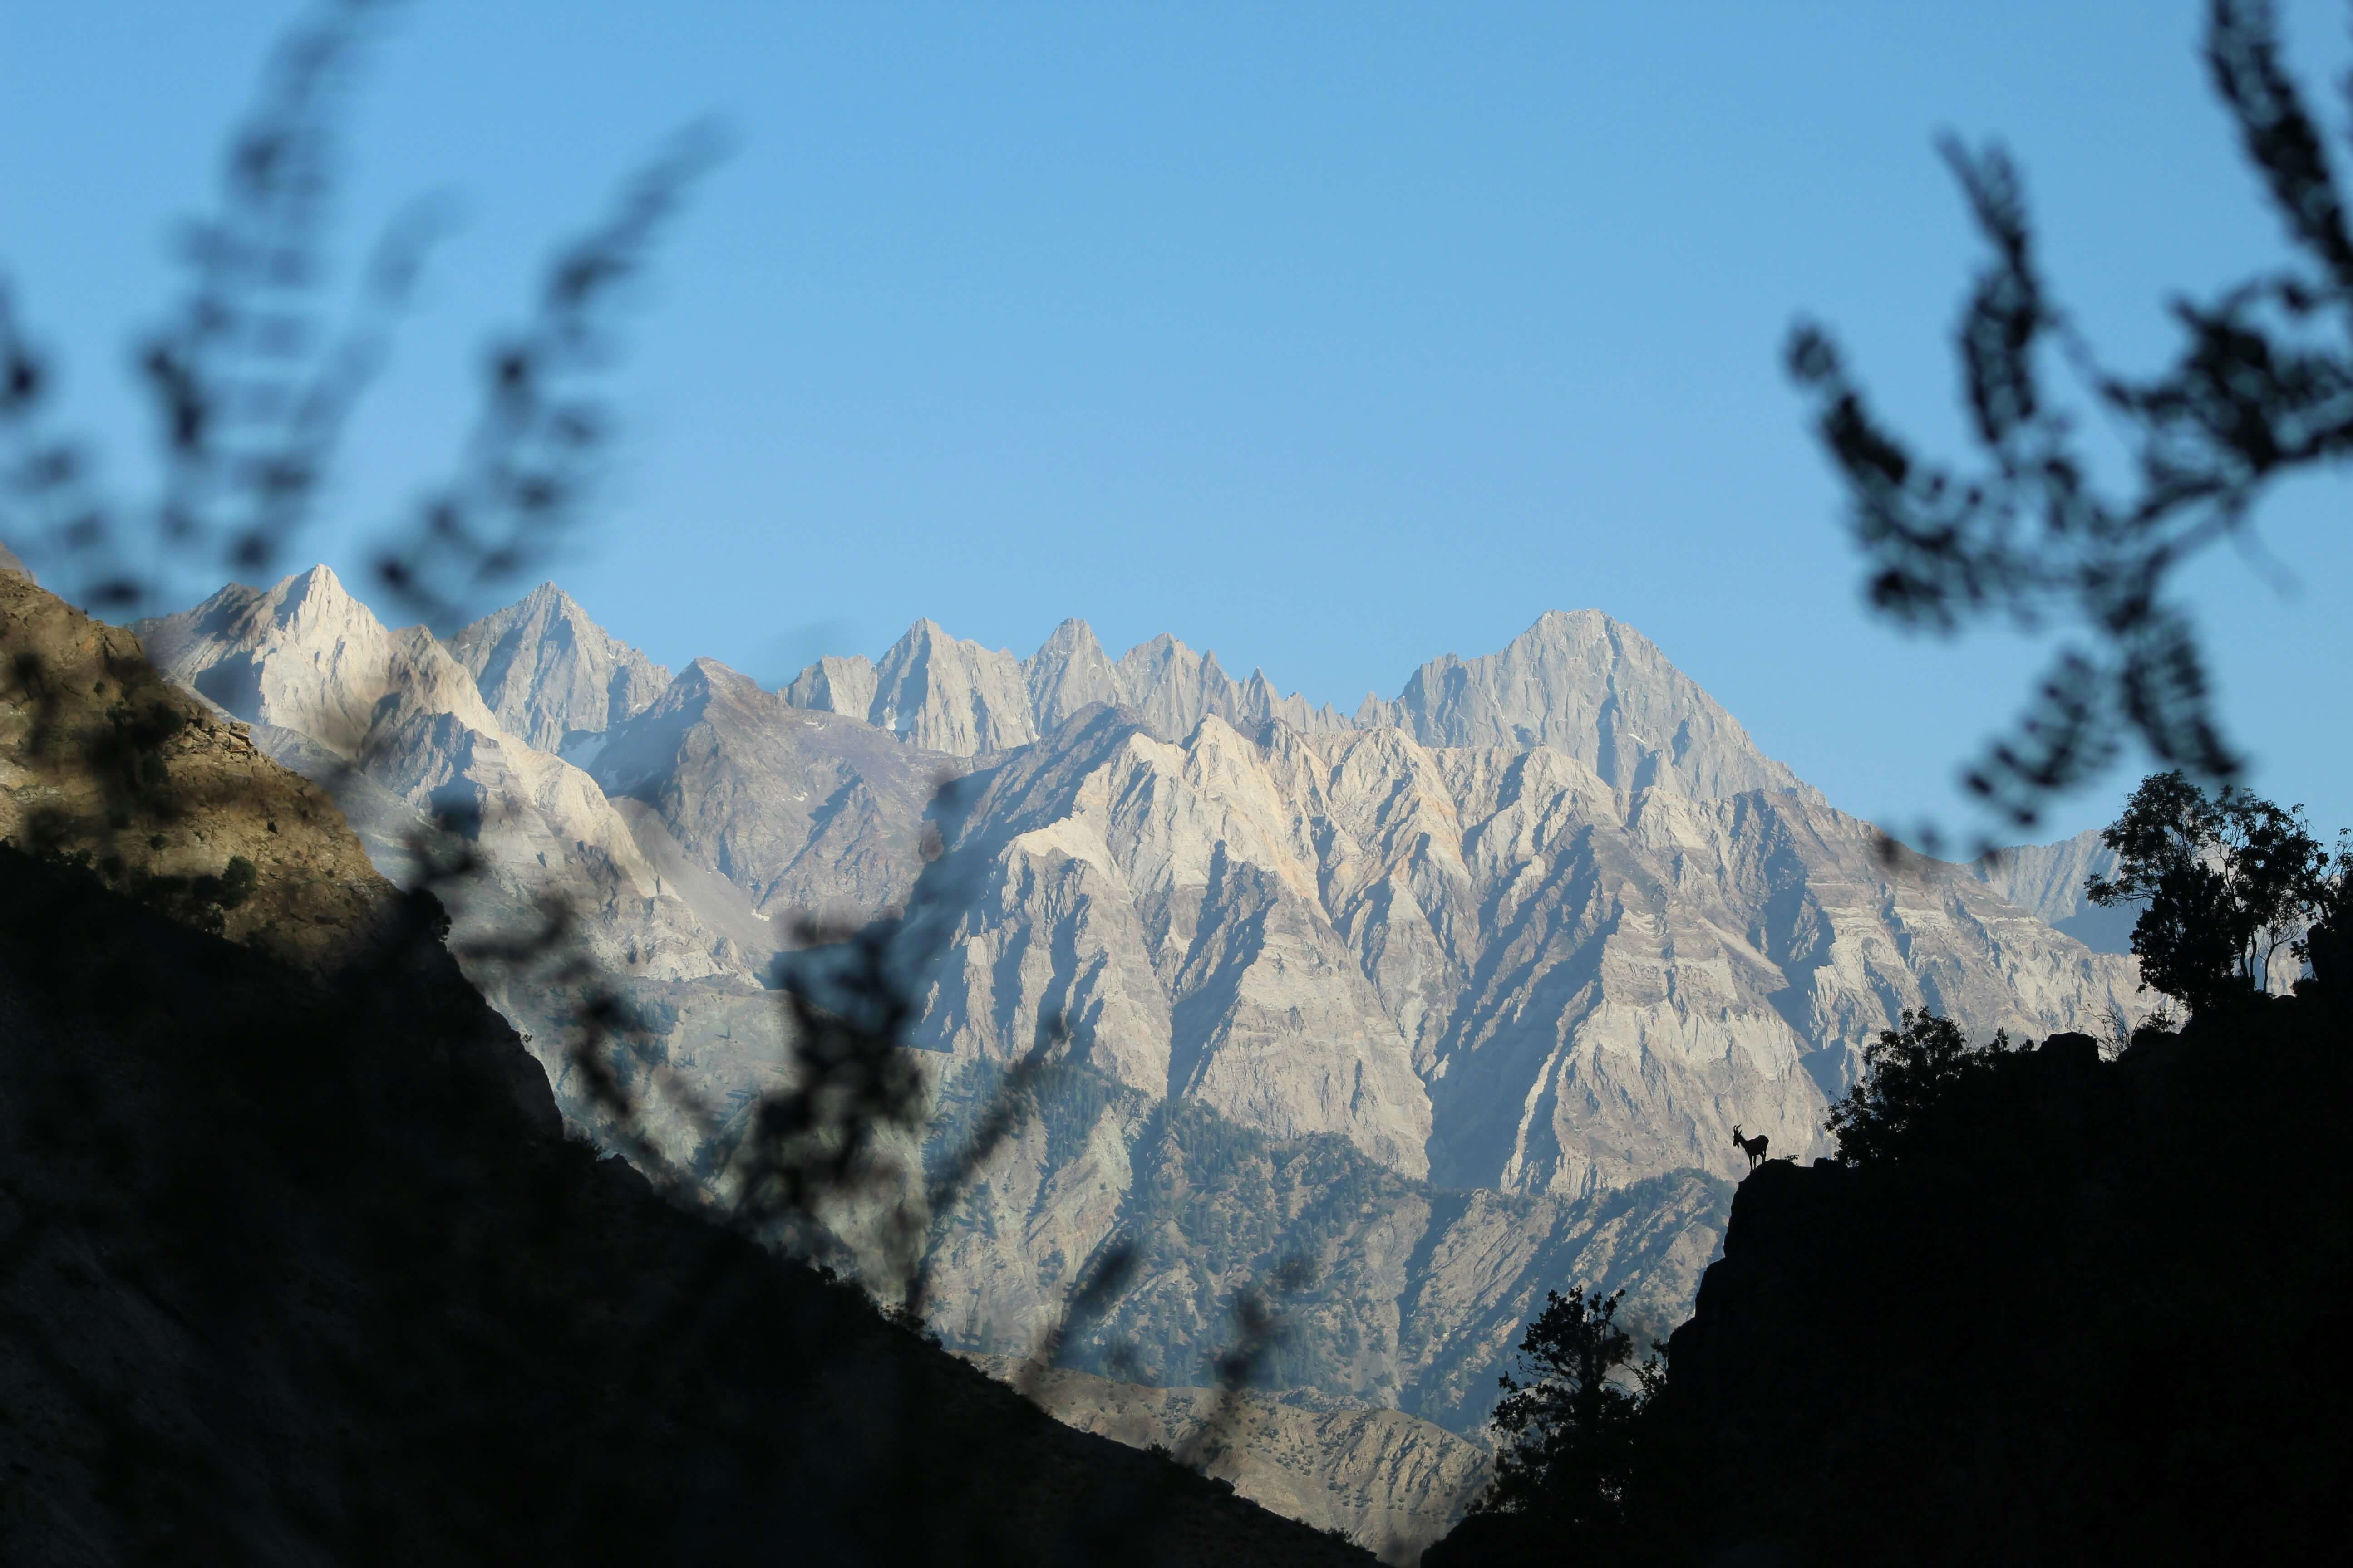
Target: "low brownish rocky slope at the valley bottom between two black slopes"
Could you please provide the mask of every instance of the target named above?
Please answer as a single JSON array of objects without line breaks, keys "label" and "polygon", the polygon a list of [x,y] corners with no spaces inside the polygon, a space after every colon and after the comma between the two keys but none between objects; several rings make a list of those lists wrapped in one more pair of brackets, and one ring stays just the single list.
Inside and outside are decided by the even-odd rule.
[{"label": "low brownish rocky slope at the valley bottom between two black slopes", "polygon": [[1193,1453],[1202,1474],[1252,1502],[1339,1530],[1388,1563],[1412,1561],[1487,1486],[1485,1448],[1400,1410],[1257,1392],[1221,1403],[1217,1389],[1155,1389],[1005,1356],[974,1361],[1054,1420],[1129,1448]]}]

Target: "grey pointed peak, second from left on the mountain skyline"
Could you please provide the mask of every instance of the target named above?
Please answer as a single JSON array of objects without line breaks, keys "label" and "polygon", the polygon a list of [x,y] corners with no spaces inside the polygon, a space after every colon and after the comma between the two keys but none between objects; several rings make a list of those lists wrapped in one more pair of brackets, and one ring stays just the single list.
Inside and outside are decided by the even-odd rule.
[{"label": "grey pointed peak, second from left on the mountain skyline", "polygon": [[499,722],[544,752],[645,712],[671,684],[666,668],[591,621],[555,583],[475,621],[447,646]]}]

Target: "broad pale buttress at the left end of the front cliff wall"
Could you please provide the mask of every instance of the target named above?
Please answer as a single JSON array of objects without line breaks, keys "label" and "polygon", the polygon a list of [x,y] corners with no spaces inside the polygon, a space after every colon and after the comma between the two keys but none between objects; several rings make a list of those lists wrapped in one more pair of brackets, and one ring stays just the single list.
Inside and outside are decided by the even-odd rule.
[{"label": "broad pale buttress at the left end of the front cliff wall", "polygon": [[972,788],[944,875],[979,891],[927,1041],[1021,1056],[1059,1020],[1146,1093],[1428,1168],[1409,1044],[1327,919],[1318,825],[1261,748],[1214,717],[1169,745],[1099,710]]}]

